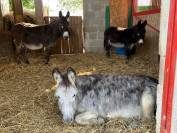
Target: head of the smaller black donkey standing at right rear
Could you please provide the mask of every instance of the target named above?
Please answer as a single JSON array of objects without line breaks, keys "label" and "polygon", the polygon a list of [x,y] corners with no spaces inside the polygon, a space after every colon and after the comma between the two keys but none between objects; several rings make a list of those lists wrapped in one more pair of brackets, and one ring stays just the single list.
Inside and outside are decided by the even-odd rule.
[{"label": "head of the smaller black donkey standing at right rear", "polygon": [[145,20],[144,22],[141,23],[141,20],[138,21],[138,23],[134,26],[133,30],[133,36],[134,40],[138,42],[138,44],[143,44],[144,43],[144,37],[146,33],[146,27],[147,21]]}]

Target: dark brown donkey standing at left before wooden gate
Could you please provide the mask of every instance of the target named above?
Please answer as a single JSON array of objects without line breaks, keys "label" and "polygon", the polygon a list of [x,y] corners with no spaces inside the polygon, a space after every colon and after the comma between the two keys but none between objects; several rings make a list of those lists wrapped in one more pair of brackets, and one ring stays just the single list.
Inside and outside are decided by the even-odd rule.
[{"label": "dark brown donkey standing at left before wooden gate", "polygon": [[49,62],[50,48],[59,37],[69,39],[69,16],[59,12],[59,19],[46,25],[33,25],[32,27],[26,24],[18,23],[13,26],[11,32],[13,43],[15,44],[17,62],[21,61],[29,64],[26,56],[27,49],[38,50],[44,49],[44,63]]}]

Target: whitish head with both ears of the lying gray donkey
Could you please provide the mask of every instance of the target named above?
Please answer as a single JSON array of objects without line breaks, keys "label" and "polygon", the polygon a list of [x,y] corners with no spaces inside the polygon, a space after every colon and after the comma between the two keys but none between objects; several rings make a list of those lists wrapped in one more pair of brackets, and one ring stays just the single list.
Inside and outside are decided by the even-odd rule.
[{"label": "whitish head with both ears of the lying gray donkey", "polygon": [[72,68],[68,68],[67,73],[62,75],[55,68],[53,70],[54,80],[57,82],[55,96],[58,98],[59,109],[63,115],[65,123],[71,123],[77,108],[77,93],[75,85],[76,72]]}]

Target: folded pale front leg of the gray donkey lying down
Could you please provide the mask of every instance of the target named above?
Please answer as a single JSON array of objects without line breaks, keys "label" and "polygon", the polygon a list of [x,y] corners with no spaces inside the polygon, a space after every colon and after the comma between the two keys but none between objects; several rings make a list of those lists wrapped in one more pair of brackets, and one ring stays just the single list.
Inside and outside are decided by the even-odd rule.
[{"label": "folded pale front leg of the gray donkey lying down", "polygon": [[84,112],[75,117],[75,121],[81,125],[101,124],[104,119],[93,112]]}]

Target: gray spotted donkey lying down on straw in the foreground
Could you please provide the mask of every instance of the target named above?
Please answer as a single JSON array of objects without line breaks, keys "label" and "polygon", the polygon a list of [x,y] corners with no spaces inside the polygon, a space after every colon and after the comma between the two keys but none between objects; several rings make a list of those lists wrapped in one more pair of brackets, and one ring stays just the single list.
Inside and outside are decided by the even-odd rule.
[{"label": "gray spotted donkey lying down on straw in the foreground", "polygon": [[65,123],[100,124],[105,118],[150,118],[157,81],[146,76],[84,75],[53,70],[55,96]]}]

